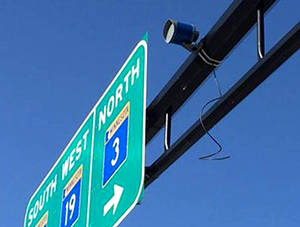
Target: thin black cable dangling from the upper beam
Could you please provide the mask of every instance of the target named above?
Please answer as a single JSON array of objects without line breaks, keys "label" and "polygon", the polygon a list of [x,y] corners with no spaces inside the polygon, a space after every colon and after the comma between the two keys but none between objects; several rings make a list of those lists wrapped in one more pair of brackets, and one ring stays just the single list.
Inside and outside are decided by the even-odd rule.
[{"label": "thin black cable dangling from the upper beam", "polygon": [[225,159],[228,159],[228,158],[230,158],[230,156],[225,156],[225,157],[220,157],[220,158],[215,158],[215,157],[214,157],[214,156],[218,155],[218,154],[223,150],[223,148],[222,148],[221,144],[220,144],[220,143],[219,143],[219,142],[218,142],[218,141],[217,141],[217,140],[216,140],[216,139],[208,132],[208,130],[206,129],[206,127],[205,127],[204,124],[203,124],[203,119],[202,119],[202,117],[203,117],[203,112],[204,112],[205,108],[206,108],[209,104],[211,104],[212,102],[217,102],[217,101],[219,101],[220,99],[223,98],[222,91],[221,91],[221,87],[220,87],[220,84],[219,84],[219,81],[218,81],[218,78],[217,78],[217,75],[216,75],[215,70],[213,70],[213,75],[214,75],[214,79],[215,79],[216,86],[217,86],[217,88],[218,88],[219,97],[210,100],[209,102],[207,102],[207,103],[202,107],[202,109],[201,109],[201,115],[200,115],[200,123],[201,123],[201,126],[202,126],[202,128],[204,129],[205,133],[210,137],[210,139],[211,139],[212,141],[215,142],[215,144],[217,144],[217,146],[219,147],[219,150],[216,151],[216,152],[214,152],[214,153],[212,153],[212,154],[210,154],[210,155],[206,155],[206,156],[199,157],[199,159],[201,159],[201,160],[213,160],[213,161],[217,161],[217,160],[225,160]]}]

